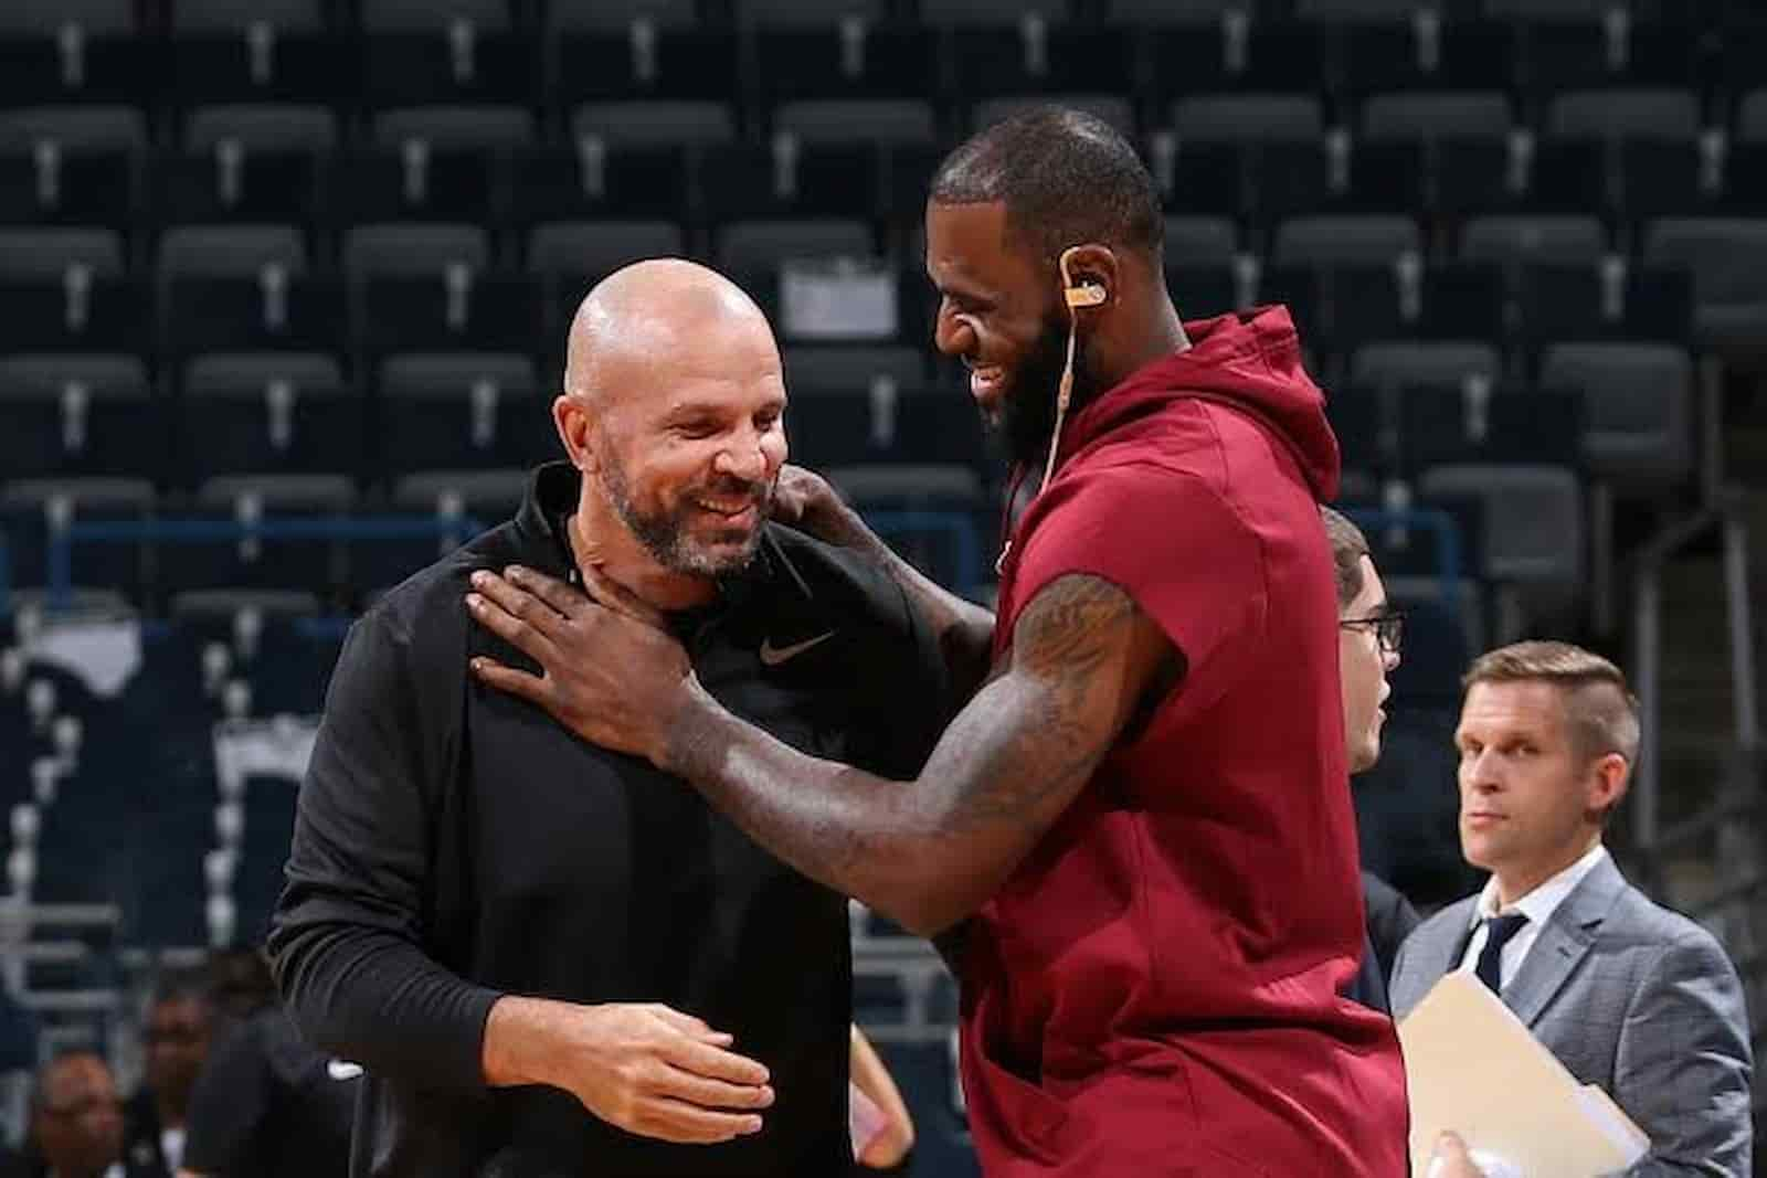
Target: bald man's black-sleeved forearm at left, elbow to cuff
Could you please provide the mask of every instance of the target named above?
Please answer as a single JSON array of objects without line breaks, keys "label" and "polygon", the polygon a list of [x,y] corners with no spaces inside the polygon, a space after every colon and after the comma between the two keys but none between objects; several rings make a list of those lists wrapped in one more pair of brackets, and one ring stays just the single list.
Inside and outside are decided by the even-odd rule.
[{"label": "bald man's black-sleeved forearm at left, elbow to cuff", "polygon": [[313,1046],[426,1088],[486,1084],[482,1038],[497,991],[465,982],[396,933],[318,924],[283,929],[276,978]]}]

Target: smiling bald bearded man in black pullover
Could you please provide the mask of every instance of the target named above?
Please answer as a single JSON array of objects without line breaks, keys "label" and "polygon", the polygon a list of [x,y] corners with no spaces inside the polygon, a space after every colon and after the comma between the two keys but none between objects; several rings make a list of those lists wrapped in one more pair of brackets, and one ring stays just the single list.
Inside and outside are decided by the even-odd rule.
[{"label": "smiling bald bearded man in black pullover", "polygon": [[535,666],[470,623],[484,570],[594,572],[779,740],[917,766],[945,719],[940,652],[885,574],[767,521],[785,401],[728,281],[611,276],[553,403],[569,461],[352,629],[270,936],[304,1035],[368,1070],[352,1174],[852,1164],[846,901],[686,782],[468,673]]}]

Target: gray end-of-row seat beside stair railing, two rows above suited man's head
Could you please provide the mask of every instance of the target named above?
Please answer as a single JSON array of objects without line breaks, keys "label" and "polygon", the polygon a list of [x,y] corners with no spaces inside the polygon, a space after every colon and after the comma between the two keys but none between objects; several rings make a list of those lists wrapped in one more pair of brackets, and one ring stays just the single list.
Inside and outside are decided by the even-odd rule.
[{"label": "gray end-of-row seat beside stair railing, two rows above suited man's head", "polygon": [[1693,360],[1666,344],[1555,344],[1541,383],[1583,394],[1583,452],[1590,470],[1631,486],[1657,486],[1693,470]]}]

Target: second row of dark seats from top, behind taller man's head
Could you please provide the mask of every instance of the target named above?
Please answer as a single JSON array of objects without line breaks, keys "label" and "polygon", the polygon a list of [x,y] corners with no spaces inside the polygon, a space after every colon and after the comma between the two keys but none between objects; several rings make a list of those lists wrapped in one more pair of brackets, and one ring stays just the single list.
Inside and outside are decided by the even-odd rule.
[{"label": "second row of dark seats from top, behind taller man's head", "polygon": [[[1080,104],[1110,115],[1117,101]],[[1483,101],[1456,95],[1422,106],[1474,113]],[[1004,109],[984,111],[982,122]],[[1392,118],[1421,111],[1399,109]],[[769,143],[691,148],[679,141],[730,134],[726,108],[611,104],[583,113],[578,140],[550,147],[521,145],[528,120],[519,111],[399,111],[398,122],[385,124],[387,138],[368,147],[332,147],[330,115],[309,108],[205,113],[216,120],[193,124],[198,147],[157,152],[133,147],[138,127],[127,113],[111,111],[120,122],[110,124],[106,111],[80,111],[78,125],[64,125],[65,140],[55,138],[41,113],[9,138],[0,117],[0,224],[269,221],[322,230],[465,221],[525,228],[587,217],[716,224],[838,215],[906,228],[919,221],[947,150],[931,136],[928,111],[912,102],[799,104],[781,111],[793,129]],[[1767,201],[1767,138],[1433,134],[1415,125],[1389,138],[1350,138],[1322,131],[1311,101],[1281,95],[1198,99],[1180,115],[1189,132],[1145,140],[1172,214],[1260,224],[1309,212],[1408,210],[1431,221],[1597,214],[1626,224],[1657,215],[1748,215]],[[903,118],[917,127],[917,141],[891,141],[894,132],[884,125]],[[822,141],[841,124],[850,127],[841,141]],[[505,134],[518,138],[504,141]]]}]

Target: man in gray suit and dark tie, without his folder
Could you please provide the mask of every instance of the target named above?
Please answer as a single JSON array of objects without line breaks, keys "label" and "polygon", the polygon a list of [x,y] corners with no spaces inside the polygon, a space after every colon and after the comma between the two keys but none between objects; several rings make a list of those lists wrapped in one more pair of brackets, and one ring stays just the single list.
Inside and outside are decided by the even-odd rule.
[{"label": "man in gray suit and dark tie, without his folder", "polygon": [[1460,839],[1491,872],[1399,948],[1403,1017],[1474,970],[1560,1063],[1650,1137],[1633,1176],[1749,1173],[1749,1037],[1710,933],[1652,904],[1601,844],[1638,754],[1638,710],[1606,659],[1518,643],[1465,676]]}]

